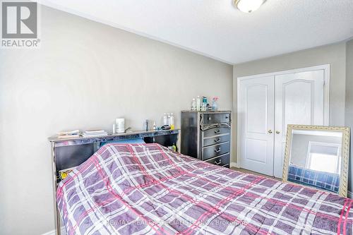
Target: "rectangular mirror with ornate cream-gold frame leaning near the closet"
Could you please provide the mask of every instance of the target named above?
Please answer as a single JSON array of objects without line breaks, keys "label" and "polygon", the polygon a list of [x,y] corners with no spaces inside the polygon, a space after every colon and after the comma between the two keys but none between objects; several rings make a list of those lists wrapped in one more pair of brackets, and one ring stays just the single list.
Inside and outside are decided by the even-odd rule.
[{"label": "rectangular mirror with ornate cream-gold frame leaning near the closet", "polygon": [[288,125],[283,178],[347,197],[349,128]]}]

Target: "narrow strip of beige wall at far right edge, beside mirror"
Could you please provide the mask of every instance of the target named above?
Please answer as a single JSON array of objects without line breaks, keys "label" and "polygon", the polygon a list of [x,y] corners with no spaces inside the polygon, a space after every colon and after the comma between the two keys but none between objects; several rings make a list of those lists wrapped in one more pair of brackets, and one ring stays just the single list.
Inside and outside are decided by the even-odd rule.
[{"label": "narrow strip of beige wall at far right edge, beside mirror", "polygon": [[[347,42],[347,63],[346,63],[346,106],[345,106],[345,126],[351,128],[353,131],[353,40]],[[348,190],[353,190],[353,151],[352,151],[352,133],[351,133],[351,152],[350,152],[350,171],[349,171],[349,186]]]}]

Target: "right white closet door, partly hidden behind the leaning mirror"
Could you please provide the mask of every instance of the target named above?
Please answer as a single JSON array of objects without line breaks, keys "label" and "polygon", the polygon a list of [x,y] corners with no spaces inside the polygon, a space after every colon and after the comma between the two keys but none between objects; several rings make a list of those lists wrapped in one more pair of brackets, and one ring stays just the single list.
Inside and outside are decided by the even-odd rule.
[{"label": "right white closet door, partly hidden behind the leaning mirror", "polygon": [[275,76],[274,175],[282,178],[288,124],[323,125],[323,70]]}]

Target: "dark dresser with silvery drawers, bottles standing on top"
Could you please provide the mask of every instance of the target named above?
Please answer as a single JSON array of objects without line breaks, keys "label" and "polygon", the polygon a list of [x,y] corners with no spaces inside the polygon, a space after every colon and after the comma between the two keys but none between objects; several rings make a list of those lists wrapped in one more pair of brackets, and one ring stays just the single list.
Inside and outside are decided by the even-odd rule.
[{"label": "dark dresser with silvery drawers, bottles standing on top", "polygon": [[231,114],[182,111],[181,153],[229,168]]}]

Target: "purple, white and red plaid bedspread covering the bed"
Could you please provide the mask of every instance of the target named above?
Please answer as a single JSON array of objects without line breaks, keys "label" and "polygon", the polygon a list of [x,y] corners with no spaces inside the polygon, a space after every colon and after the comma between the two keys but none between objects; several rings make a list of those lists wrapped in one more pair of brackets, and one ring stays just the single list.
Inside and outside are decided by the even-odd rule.
[{"label": "purple, white and red plaid bedspread covering the bed", "polygon": [[61,181],[68,234],[352,234],[352,200],[217,167],[157,144],[109,144]]}]

